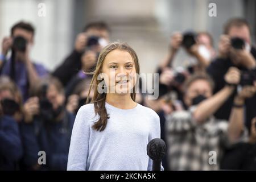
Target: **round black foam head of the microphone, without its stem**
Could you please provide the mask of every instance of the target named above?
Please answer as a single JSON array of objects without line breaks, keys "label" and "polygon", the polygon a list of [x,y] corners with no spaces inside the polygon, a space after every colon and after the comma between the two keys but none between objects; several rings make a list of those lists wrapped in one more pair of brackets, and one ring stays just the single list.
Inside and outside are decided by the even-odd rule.
[{"label": "round black foam head of the microphone, without its stem", "polygon": [[166,143],[160,138],[152,139],[147,144],[147,155],[152,160],[162,160],[166,150]]}]

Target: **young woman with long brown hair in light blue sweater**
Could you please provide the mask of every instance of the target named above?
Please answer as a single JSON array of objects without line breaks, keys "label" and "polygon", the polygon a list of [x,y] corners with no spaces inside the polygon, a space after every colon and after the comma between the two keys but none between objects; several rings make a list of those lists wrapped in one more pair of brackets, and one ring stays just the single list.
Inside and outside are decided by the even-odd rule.
[{"label": "young woman with long brown hair in light blue sweater", "polygon": [[151,170],[146,148],[160,138],[160,122],[155,111],[135,102],[138,73],[137,54],[126,43],[101,51],[92,104],[79,109],[73,126],[68,170]]}]

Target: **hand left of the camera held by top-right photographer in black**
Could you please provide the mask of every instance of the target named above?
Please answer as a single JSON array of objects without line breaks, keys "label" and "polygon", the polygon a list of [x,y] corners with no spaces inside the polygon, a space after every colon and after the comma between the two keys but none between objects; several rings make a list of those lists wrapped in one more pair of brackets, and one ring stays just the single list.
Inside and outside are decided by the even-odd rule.
[{"label": "hand left of the camera held by top-right photographer in black", "polygon": [[230,38],[228,35],[221,35],[218,42],[218,55],[220,57],[228,57],[230,49]]}]

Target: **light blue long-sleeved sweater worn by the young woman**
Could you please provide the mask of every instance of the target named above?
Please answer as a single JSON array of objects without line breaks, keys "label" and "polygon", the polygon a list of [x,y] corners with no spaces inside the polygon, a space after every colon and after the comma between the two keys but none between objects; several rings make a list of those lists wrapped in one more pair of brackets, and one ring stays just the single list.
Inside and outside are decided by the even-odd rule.
[{"label": "light blue long-sleeved sweater worn by the young woman", "polygon": [[137,104],[119,109],[106,102],[109,114],[104,131],[92,129],[98,121],[94,105],[82,106],[73,126],[68,170],[151,170],[147,144],[160,138],[160,121],[152,109]]}]

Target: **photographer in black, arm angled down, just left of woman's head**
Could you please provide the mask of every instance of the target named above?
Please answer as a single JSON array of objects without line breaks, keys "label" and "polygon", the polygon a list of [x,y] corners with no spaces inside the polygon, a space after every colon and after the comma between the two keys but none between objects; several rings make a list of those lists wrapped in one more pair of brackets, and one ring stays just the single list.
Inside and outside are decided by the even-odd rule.
[{"label": "photographer in black, arm angled down, just left of woman's head", "polygon": [[[84,31],[77,35],[75,48],[71,54],[53,71],[52,75],[59,78],[63,86],[81,73],[81,69],[87,72],[97,61],[97,53],[109,43],[110,30],[104,22],[92,22],[85,26]],[[86,61],[87,68],[82,68]],[[87,63],[88,62],[88,63]]]}]

